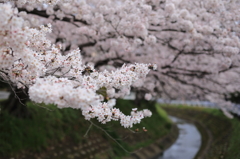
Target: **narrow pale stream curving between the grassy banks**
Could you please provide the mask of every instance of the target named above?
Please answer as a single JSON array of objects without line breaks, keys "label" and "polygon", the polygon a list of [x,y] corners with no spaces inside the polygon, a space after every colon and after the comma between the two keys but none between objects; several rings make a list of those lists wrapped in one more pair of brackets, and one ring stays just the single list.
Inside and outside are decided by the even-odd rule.
[{"label": "narrow pale stream curving between the grassy banks", "polygon": [[194,124],[170,116],[177,124],[179,136],[176,142],[157,159],[193,159],[201,147],[201,134]]}]

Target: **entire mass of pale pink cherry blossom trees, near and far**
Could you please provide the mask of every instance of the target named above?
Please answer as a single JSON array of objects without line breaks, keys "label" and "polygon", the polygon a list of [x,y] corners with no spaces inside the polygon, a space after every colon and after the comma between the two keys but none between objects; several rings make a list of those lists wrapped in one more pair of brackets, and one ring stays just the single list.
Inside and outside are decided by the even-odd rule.
[{"label": "entire mass of pale pink cherry blossom trees, near and far", "polygon": [[0,7],[1,76],[37,103],[125,127],[151,115],[113,107],[130,88],[148,100],[210,100],[232,110],[224,95],[240,86],[237,0],[18,0]]}]

